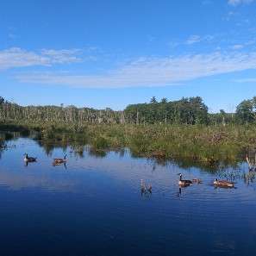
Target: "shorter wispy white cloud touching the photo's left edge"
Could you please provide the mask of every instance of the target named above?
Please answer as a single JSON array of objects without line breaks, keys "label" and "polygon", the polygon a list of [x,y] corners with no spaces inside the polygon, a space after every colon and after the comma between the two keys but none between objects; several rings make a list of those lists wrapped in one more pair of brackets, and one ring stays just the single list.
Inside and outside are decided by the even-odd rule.
[{"label": "shorter wispy white cloud touching the photo's left edge", "polygon": [[23,66],[52,66],[78,62],[80,50],[43,49],[39,53],[29,52],[18,47],[0,51],[0,70]]}]

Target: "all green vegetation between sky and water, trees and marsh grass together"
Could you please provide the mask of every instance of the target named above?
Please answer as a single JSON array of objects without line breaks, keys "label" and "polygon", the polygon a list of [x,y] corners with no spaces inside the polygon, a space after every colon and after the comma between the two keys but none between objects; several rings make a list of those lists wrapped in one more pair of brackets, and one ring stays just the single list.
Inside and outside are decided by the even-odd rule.
[{"label": "all green vegetation between sky and water, trees and marsh grass together", "polygon": [[[21,107],[2,102],[0,131],[6,134],[19,132],[25,136],[34,133],[34,139],[44,144],[52,142],[76,147],[91,145],[91,151],[99,154],[128,147],[135,157],[193,162],[205,168],[234,166],[244,161],[246,154],[254,153],[255,98],[240,103],[234,114],[223,111],[209,114],[200,97],[171,103],[176,108],[174,114],[174,110],[170,110],[172,120],[169,112],[162,115],[162,109],[162,119],[159,121],[159,108],[169,103],[163,100],[156,103],[153,98],[151,103],[130,105],[122,113],[111,110],[115,115],[121,115],[122,122],[113,122],[113,115],[110,118],[107,112],[104,112],[104,122],[89,122],[84,121],[84,117],[79,116],[79,110],[74,107],[74,112],[69,112],[70,109],[63,107]],[[175,104],[179,106],[175,107]],[[29,111],[34,111],[34,114],[31,116]],[[41,115],[38,111],[41,111]],[[99,112],[101,110],[95,111],[103,115],[103,112]],[[88,113],[86,115],[91,115]],[[108,122],[108,118],[111,122]],[[128,122],[129,118],[132,121]],[[150,118],[155,122],[146,122]],[[94,117],[94,120],[97,118]]]}]

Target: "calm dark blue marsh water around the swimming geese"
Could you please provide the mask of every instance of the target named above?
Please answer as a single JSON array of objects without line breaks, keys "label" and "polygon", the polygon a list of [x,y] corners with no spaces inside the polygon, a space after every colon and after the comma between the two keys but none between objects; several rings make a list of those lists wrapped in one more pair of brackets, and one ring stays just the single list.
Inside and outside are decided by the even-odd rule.
[{"label": "calm dark blue marsh water around the swimming geese", "polygon": [[[24,153],[37,162],[25,165]],[[66,166],[53,166],[64,154]],[[179,172],[203,184],[179,188]],[[254,255],[253,177],[245,163],[209,172],[128,149],[77,153],[10,140],[0,158],[0,254]],[[214,178],[232,178],[235,188],[215,188]],[[140,179],[152,194],[141,195]]]}]

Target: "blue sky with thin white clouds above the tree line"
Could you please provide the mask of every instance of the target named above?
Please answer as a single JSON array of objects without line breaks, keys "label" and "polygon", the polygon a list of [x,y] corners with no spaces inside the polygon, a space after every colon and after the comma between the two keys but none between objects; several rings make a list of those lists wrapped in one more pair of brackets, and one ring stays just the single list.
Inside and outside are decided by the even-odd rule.
[{"label": "blue sky with thin white clouds above the tree line", "polygon": [[256,1],[1,1],[0,96],[101,109],[201,96],[234,111],[256,96]]}]

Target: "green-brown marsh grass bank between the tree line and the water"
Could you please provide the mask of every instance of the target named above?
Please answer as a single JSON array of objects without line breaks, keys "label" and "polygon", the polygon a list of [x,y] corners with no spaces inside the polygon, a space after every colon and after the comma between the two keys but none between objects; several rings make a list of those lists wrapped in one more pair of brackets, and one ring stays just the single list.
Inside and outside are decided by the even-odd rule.
[{"label": "green-brown marsh grass bank between the tree line and the water", "polygon": [[256,146],[256,126],[22,123],[1,130],[37,131],[36,139],[90,144],[96,152],[128,147],[134,156],[233,165]]}]

